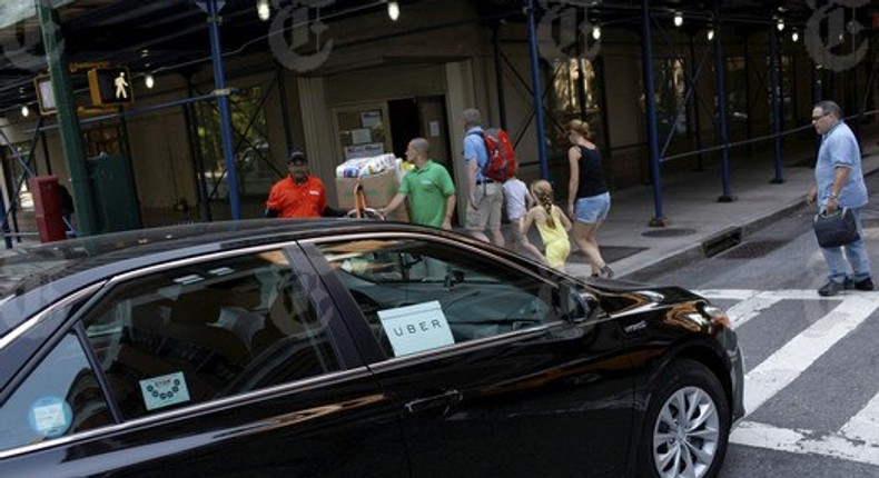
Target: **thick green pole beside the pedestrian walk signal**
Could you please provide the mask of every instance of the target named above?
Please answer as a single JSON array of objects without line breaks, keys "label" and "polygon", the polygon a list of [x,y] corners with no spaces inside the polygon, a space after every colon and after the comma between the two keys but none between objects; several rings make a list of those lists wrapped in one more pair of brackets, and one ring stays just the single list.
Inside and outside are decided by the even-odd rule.
[{"label": "thick green pole beside the pedestrian walk signal", "polygon": [[63,39],[60,38],[60,22],[58,13],[52,9],[52,1],[38,0],[37,16],[40,19],[46,62],[52,80],[61,147],[70,170],[70,186],[73,189],[73,206],[77,211],[77,229],[79,236],[91,236],[97,231],[91,185],[86,170],[82,136],[79,129],[79,118],[77,118],[77,106],[73,101],[70,72],[63,52]]}]

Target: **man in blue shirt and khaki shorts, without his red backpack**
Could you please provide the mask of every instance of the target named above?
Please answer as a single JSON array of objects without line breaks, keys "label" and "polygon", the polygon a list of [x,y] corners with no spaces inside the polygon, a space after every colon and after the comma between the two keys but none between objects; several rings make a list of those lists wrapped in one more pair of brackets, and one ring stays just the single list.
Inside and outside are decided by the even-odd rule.
[{"label": "man in blue shirt and khaki shorts, without his red backpack", "polygon": [[497,181],[486,173],[486,168],[491,165],[480,111],[473,108],[466,109],[461,118],[464,122],[464,162],[470,187],[464,225],[473,237],[486,242],[488,237],[485,230],[488,229],[492,242],[503,247],[504,235],[501,232],[501,210],[504,205],[503,180]]}]

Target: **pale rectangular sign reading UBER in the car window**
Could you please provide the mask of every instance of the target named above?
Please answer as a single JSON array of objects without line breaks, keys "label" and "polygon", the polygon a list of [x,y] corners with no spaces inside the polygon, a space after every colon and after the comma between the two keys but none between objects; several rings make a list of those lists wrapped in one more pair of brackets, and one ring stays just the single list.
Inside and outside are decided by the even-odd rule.
[{"label": "pale rectangular sign reading UBER in the car window", "polygon": [[396,357],[455,343],[436,300],[378,311]]}]

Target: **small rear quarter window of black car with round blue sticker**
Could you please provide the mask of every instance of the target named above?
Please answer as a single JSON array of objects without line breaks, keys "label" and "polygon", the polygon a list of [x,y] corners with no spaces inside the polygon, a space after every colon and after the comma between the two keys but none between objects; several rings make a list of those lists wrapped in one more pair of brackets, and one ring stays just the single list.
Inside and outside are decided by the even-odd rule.
[{"label": "small rear quarter window of black car with round blue sticker", "polygon": [[0,405],[0,450],[110,425],[112,417],[75,333],[68,333]]}]

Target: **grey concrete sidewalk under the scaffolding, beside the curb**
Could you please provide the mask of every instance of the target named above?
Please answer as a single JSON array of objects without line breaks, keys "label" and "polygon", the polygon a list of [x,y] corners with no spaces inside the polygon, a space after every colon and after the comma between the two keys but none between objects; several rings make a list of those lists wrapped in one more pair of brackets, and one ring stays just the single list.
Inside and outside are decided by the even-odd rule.
[{"label": "grey concrete sidewalk under the scaffolding, beside the curb", "polygon": [[[861,131],[863,173],[879,170],[879,129]],[[784,151],[786,165],[810,165],[813,150]],[[743,155],[743,151],[738,152]],[[650,227],[654,216],[653,188],[638,186],[612,192],[611,212],[599,230],[599,245],[616,278],[645,280],[664,269],[720,252],[743,241],[752,231],[806,208],[806,193],[814,182],[810,166],[786,166],[784,182],[772,185],[771,153],[753,157],[731,151],[730,190],[737,200],[718,202],[722,195],[720,168],[663,175],[662,210],[665,227]],[[573,248],[569,273],[591,275],[589,262]]]}]

